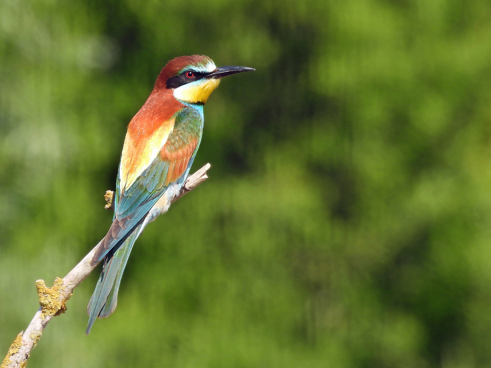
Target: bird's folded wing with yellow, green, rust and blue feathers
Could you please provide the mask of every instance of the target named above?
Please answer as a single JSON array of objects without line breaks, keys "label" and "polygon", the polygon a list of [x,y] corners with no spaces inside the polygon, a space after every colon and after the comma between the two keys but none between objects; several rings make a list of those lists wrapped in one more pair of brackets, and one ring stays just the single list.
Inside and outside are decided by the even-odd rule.
[{"label": "bird's folded wing with yellow, green, rust and blue feathers", "polygon": [[188,172],[202,128],[202,114],[186,107],[145,144],[137,142],[133,150],[126,148],[127,143],[133,143],[127,135],[118,174],[114,221],[92,263],[100,262],[114,247],[115,251],[143,221],[167,186]]}]

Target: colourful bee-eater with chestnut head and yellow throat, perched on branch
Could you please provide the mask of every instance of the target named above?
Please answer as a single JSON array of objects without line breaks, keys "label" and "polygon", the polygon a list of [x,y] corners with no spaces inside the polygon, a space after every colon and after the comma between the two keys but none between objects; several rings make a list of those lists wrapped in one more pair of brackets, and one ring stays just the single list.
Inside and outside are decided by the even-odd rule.
[{"label": "colourful bee-eater with chestnut head and yellow throat, perched on branch", "polygon": [[113,221],[90,261],[103,269],[87,306],[88,335],[97,317],[117,304],[121,276],[136,238],[168,210],[186,182],[201,141],[203,105],[223,77],[254,71],[217,67],[204,55],[165,64],[150,96],[131,119],[119,163]]}]

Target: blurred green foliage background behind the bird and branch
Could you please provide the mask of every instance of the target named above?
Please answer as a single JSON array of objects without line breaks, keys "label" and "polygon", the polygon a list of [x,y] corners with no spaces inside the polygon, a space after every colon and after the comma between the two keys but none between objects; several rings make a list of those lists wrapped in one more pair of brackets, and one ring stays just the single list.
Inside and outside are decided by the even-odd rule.
[{"label": "blurred green foliage background behind the bird and branch", "polygon": [[491,3],[1,0],[0,351],[103,237],[167,60],[257,69],[205,106],[210,179],[99,269],[29,367],[491,367]]}]

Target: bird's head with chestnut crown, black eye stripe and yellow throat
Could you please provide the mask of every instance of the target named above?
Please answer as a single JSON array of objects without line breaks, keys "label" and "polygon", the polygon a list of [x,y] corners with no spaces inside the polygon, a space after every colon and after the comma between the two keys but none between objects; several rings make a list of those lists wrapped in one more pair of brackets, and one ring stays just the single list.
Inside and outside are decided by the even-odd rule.
[{"label": "bird's head with chestnut crown, black eye stripe and yellow throat", "polygon": [[253,70],[245,66],[217,68],[212,59],[203,55],[180,56],[164,66],[155,88],[170,89],[174,97],[184,103],[204,104],[221,78]]}]

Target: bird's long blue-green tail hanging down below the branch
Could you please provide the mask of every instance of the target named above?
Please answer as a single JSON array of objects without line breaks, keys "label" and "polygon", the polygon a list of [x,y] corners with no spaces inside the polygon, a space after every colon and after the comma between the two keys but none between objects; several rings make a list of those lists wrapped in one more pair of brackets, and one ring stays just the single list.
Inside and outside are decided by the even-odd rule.
[{"label": "bird's long blue-green tail hanging down below the branch", "polygon": [[90,329],[97,317],[107,317],[114,312],[121,277],[133,244],[140,233],[140,227],[141,225],[136,227],[133,233],[126,238],[115,252],[109,252],[104,258],[101,276],[87,306],[89,321],[85,335],[90,333]]}]

